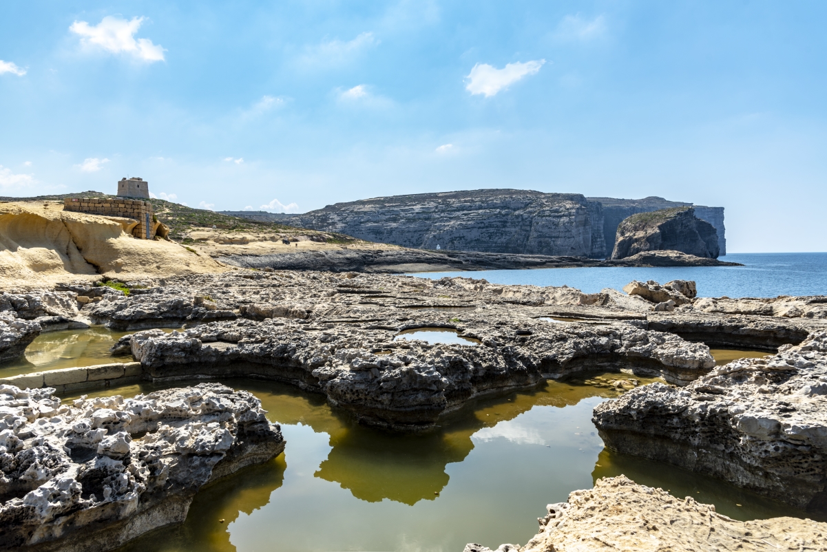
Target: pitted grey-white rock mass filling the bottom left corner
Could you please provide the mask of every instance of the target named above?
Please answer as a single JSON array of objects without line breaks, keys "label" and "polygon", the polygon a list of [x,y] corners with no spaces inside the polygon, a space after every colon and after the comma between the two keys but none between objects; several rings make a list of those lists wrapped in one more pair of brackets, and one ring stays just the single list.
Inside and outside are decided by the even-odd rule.
[{"label": "pitted grey-white rock mass filling the bottom left corner", "polygon": [[0,385],[0,550],[112,550],[284,450],[261,402],[218,383],[71,405],[53,393]]}]

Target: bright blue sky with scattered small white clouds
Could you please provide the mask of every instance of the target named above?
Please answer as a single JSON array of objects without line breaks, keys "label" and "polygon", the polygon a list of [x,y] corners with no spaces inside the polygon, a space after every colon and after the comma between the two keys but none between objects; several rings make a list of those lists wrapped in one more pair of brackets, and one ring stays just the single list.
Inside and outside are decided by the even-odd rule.
[{"label": "bright blue sky with scattered small white clouds", "polygon": [[0,195],[521,188],[827,250],[827,2],[2,2]]}]

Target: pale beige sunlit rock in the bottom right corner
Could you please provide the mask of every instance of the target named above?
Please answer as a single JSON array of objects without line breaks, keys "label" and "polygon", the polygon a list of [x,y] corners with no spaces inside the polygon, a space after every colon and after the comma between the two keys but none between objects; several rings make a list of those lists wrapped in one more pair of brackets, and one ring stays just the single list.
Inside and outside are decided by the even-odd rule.
[{"label": "pale beige sunlit rock in the bottom right corner", "polygon": [[[568,502],[549,504],[540,532],[528,544],[501,545],[500,552],[743,552],[827,550],[827,523],[794,517],[736,521],[715,506],[680,499],[629,478],[598,479]],[[465,552],[491,552],[467,545]]]}]

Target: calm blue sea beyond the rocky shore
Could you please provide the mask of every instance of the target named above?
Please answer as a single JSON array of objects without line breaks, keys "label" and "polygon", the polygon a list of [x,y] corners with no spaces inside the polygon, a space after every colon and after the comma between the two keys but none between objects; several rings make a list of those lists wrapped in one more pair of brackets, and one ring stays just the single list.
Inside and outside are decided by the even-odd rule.
[{"label": "calm blue sea beyond the rocky shore", "polygon": [[585,268],[536,270],[481,270],[412,274],[421,278],[464,276],[485,278],[490,283],[525,283],[535,286],[578,288],[597,293],[620,289],[632,280],[695,280],[701,297],[775,297],[777,295],[827,294],[827,253],[733,253],[721,260],[744,266],[672,268]]}]

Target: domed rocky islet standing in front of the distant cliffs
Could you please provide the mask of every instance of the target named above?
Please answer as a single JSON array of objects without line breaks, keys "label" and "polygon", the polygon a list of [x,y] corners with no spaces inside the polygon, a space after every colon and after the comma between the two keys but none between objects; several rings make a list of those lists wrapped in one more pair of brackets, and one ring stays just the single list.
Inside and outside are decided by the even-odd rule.
[{"label": "domed rocky islet standing in front of the distant cliffs", "polygon": [[638,213],[618,226],[611,258],[625,259],[642,251],[657,250],[716,259],[718,234],[715,226],[695,216],[692,207]]}]

